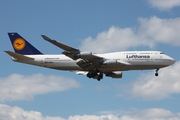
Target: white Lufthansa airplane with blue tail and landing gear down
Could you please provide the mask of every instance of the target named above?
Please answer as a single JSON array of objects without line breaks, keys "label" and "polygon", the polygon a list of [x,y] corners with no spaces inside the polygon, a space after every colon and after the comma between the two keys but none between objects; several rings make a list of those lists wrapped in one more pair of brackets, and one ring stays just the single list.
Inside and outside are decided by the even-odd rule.
[{"label": "white Lufthansa airplane with blue tail and landing gear down", "polygon": [[5,51],[13,61],[41,66],[56,70],[73,71],[78,75],[86,75],[98,81],[103,75],[112,78],[122,78],[122,71],[152,70],[155,76],[158,70],[170,66],[175,60],[161,51],[123,51],[97,54],[80,51],[77,48],[50,39],[42,38],[63,49],[62,54],[47,55],[41,53],[18,33],[8,33],[15,52]]}]

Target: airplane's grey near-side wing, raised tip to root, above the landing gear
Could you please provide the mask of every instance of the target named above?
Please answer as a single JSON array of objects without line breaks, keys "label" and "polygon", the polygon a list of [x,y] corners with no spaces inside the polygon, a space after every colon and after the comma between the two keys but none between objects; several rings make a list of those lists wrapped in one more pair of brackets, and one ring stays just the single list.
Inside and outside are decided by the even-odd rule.
[{"label": "airplane's grey near-side wing, raised tip to root, above the landing gear", "polygon": [[[60,43],[56,40],[50,39],[45,35],[41,35],[46,41],[56,45],[57,47],[65,50],[62,54],[70,57],[73,60],[77,60],[76,64],[79,65],[83,70],[97,70],[101,65],[104,64],[105,58],[93,54],[92,52],[82,52],[79,49],[73,48],[66,44]],[[123,61],[117,61],[120,65],[128,65]]]}]

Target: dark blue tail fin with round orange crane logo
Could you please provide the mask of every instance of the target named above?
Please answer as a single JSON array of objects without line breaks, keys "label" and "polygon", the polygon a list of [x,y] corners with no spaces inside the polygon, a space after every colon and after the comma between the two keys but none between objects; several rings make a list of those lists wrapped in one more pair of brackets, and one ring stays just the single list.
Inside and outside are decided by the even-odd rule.
[{"label": "dark blue tail fin with round orange crane logo", "polygon": [[8,33],[11,40],[12,46],[16,53],[22,55],[35,55],[42,54],[34,46],[32,46],[28,41],[21,37],[18,33]]}]

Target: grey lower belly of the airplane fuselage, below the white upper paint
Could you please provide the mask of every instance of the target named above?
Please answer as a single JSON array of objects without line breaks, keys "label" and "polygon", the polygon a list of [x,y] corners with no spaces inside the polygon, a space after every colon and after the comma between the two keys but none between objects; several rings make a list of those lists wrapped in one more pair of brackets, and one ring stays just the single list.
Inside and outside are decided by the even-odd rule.
[{"label": "grey lower belly of the airplane fuselage, below the white upper paint", "polygon": [[[79,67],[74,61],[17,61],[22,63],[27,63],[31,65],[41,66],[41,67],[47,67],[57,70],[80,70],[83,71],[81,67]],[[131,63],[132,64],[132,63]],[[107,71],[127,71],[127,70],[150,70],[150,69],[157,69],[157,68],[163,68],[168,65],[164,64],[155,64],[149,62],[148,64],[132,64],[132,65],[107,65],[107,66],[101,66],[99,68],[100,71],[107,72]],[[84,70],[86,71],[86,70]]]}]

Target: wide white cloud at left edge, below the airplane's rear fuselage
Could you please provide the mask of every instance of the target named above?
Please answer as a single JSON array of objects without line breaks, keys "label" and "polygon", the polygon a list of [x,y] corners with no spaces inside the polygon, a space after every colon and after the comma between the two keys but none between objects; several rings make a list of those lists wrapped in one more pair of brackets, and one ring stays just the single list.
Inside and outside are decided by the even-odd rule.
[{"label": "wide white cloud at left edge, below the airplane's rear fuselage", "polygon": [[0,101],[31,100],[37,94],[65,91],[79,86],[75,80],[61,76],[12,74],[0,78]]}]

